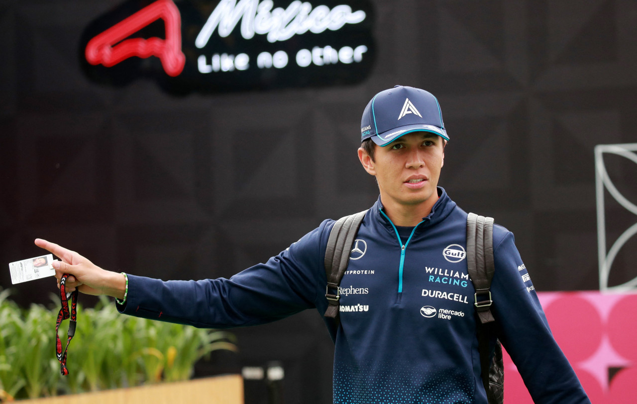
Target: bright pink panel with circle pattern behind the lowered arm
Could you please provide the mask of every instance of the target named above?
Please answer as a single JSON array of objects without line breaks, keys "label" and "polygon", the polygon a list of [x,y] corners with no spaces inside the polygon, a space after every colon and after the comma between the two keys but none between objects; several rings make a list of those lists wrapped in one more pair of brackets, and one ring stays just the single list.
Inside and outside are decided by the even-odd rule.
[{"label": "bright pink panel with circle pattern behind the lowered arm", "polygon": [[[637,386],[637,295],[538,293],[555,340],[593,404],[633,403]],[[621,370],[609,380],[610,368]],[[531,404],[505,352],[505,404]]]}]

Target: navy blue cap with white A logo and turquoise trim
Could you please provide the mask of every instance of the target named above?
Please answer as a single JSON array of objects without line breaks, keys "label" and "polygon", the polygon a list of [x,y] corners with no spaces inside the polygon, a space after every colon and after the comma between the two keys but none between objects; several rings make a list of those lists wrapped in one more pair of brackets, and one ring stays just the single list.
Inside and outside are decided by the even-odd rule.
[{"label": "navy blue cap with white A logo and turquoise trim", "polygon": [[432,132],[449,140],[438,100],[420,88],[397,85],[374,96],[361,119],[361,141],[386,146],[410,132]]}]

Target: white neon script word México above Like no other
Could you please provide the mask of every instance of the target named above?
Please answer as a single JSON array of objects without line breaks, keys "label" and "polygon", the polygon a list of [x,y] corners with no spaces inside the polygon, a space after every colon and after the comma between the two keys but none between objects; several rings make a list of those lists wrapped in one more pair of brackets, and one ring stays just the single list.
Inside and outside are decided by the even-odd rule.
[{"label": "white neon script word M\u00e9xico above Like no other", "polygon": [[245,39],[254,34],[267,35],[268,42],[285,41],[297,34],[308,31],[320,34],[326,29],[336,31],[345,24],[358,24],[365,19],[362,10],[352,12],[345,4],[335,6],[332,10],[327,6],[316,6],[312,10],[310,3],[299,0],[292,1],[287,9],[280,7],[272,10],[272,0],[221,0],[212,11],[208,21],[195,39],[197,48],[208,43],[212,32],[217,31],[225,38],[234,30],[241,20],[241,36]]}]

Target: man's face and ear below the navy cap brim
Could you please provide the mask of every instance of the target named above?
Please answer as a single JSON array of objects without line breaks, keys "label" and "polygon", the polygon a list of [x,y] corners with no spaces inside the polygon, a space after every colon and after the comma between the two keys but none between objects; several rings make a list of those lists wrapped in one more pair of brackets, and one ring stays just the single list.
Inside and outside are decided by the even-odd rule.
[{"label": "man's face and ear below the navy cap brim", "polygon": [[437,199],[445,158],[443,139],[430,132],[412,132],[387,146],[375,145],[374,160],[359,149],[365,170],[376,176],[383,204],[418,205]]}]

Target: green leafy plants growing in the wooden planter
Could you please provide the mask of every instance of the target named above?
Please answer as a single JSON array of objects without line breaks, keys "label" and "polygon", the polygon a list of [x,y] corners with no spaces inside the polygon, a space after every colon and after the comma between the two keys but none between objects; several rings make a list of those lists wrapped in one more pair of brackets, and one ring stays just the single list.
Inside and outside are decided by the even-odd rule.
[{"label": "green leafy plants growing in the wooden planter", "polygon": [[[209,352],[237,350],[231,333],[124,316],[102,296],[92,309],[78,305],[69,375],[62,377],[55,359],[59,307],[25,310],[8,295],[0,291],[0,393],[16,399],[187,380]],[[59,331],[62,346],[67,330],[65,321]]]}]

